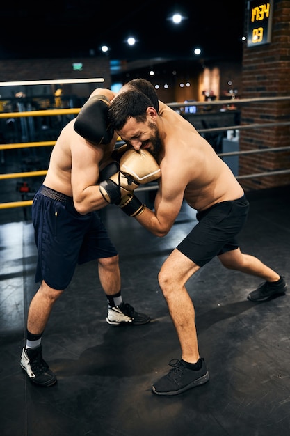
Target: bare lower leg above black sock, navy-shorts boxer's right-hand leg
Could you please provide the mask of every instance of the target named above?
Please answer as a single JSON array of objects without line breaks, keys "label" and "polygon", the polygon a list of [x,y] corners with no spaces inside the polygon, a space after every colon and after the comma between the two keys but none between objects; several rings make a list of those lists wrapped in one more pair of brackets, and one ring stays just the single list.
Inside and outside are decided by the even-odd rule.
[{"label": "bare lower leg above black sock, navy-shorts boxer's right-hand leg", "polygon": [[119,257],[99,259],[99,281],[106,295],[115,295],[121,289]]}]

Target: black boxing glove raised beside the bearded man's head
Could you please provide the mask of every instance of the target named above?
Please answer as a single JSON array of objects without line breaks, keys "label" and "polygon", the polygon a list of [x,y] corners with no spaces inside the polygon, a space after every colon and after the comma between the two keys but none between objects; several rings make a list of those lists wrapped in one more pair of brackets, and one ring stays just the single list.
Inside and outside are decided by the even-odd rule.
[{"label": "black boxing glove raised beside the bearded man's head", "polygon": [[110,101],[104,95],[90,98],[79,111],[74,122],[74,130],[81,137],[93,143],[108,144],[113,139],[114,130],[108,123]]}]

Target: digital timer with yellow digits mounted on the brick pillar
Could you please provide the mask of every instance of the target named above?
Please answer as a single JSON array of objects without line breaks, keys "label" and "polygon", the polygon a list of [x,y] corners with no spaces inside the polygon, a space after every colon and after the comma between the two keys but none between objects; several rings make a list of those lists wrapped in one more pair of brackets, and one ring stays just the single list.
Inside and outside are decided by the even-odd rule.
[{"label": "digital timer with yellow digits mounted on the brick pillar", "polygon": [[266,3],[250,0],[248,12],[248,47],[271,42],[273,0]]}]

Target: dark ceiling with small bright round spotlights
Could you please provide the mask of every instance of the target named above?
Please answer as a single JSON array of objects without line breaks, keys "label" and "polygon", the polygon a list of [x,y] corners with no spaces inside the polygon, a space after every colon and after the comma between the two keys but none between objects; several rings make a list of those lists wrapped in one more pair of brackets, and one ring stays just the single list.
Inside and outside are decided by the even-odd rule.
[{"label": "dark ceiling with small bright round spotlights", "polygon": [[[104,56],[110,59],[239,59],[245,0],[6,1],[0,6],[0,58]],[[180,12],[186,20],[173,24]],[[134,36],[134,47],[125,42]]]}]

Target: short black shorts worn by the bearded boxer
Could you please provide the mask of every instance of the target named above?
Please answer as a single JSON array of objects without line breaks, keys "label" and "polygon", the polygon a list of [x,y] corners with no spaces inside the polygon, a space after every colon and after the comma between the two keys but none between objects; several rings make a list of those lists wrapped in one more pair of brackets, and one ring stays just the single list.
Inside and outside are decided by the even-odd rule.
[{"label": "short black shorts worn by the bearded boxer", "polygon": [[212,258],[239,248],[236,235],[248,217],[249,202],[245,196],[222,201],[198,212],[198,224],[177,246],[184,256],[202,267]]}]

